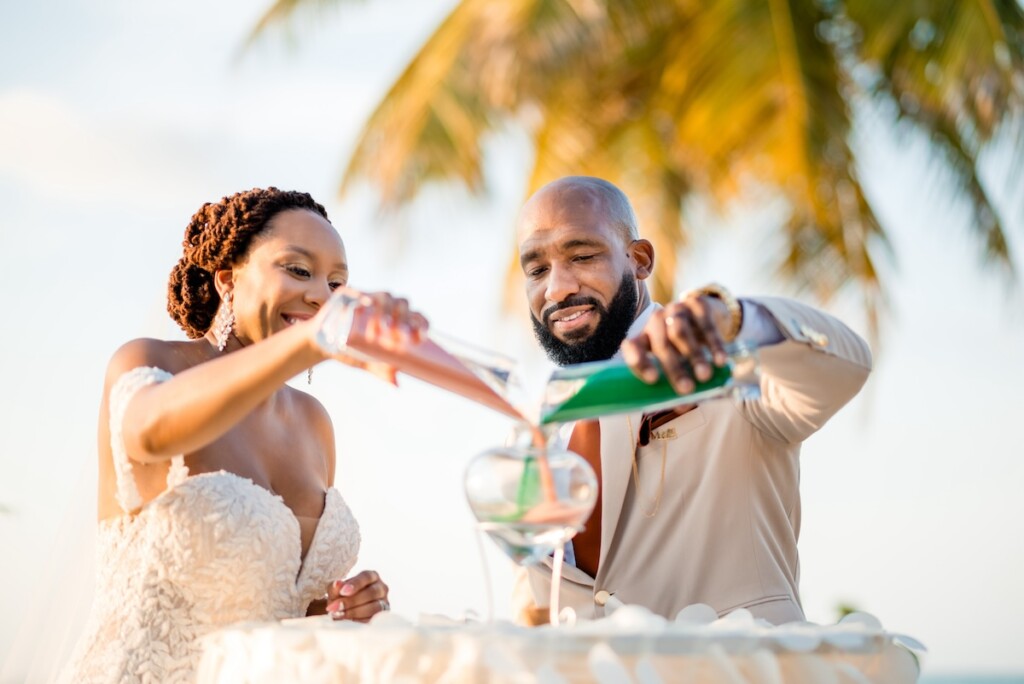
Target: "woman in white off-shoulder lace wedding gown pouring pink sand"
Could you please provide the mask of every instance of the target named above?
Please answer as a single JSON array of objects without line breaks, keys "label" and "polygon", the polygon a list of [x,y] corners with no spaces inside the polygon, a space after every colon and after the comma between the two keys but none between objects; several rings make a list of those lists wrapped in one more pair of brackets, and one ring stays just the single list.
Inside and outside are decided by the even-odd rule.
[{"label": "woman in white off-shoulder lace wedding gown pouring pink sand", "polygon": [[[331,420],[285,384],[331,357],[318,312],[348,263],[327,212],[239,193],[204,205],[183,247],[167,308],[190,340],[133,340],[108,369],[96,595],[62,681],[191,681],[200,638],[230,623],[389,607],[376,572],[346,579],[359,531],[332,487]],[[426,328],[373,300],[383,332]]]}]

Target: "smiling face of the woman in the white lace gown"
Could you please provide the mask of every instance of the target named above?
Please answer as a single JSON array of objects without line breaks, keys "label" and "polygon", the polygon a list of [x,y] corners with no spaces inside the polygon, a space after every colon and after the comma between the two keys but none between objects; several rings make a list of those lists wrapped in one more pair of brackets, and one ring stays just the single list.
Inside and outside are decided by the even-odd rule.
[{"label": "smiling face of the woman in the white lace gown", "polygon": [[291,209],[274,216],[231,269],[236,335],[258,342],[311,318],[348,283],[345,246],[319,214]]}]

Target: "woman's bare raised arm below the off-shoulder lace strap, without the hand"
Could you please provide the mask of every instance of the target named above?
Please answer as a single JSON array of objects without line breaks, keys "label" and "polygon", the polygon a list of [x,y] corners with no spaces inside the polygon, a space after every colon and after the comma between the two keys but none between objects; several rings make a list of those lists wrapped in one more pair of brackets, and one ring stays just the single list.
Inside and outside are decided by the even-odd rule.
[{"label": "woman's bare raised arm below the off-shoulder lace strap, without the hand", "polygon": [[134,340],[114,355],[108,379],[140,366],[175,373],[139,389],[122,426],[128,456],[141,463],[195,452],[222,436],[287,380],[327,358],[313,338],[316,318],[295,324],[266,340],[175,373],[174,345]]}]

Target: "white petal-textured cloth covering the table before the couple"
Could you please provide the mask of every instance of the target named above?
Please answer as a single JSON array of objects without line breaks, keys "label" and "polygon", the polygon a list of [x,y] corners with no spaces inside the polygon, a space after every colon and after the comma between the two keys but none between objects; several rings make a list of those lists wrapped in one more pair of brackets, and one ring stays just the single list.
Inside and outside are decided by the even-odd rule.
[{"label": "white petal-textured cloth covering the table before the couple", "polygon": [[[771,627],[691,606],[668,622],[636,606],[575,626],[522,628],[383,613],[371,625],[240,625],[205,641],[199,684],[238,682],[915,682],[920,644],[855,613]],[[906,646],[909,646],[906,647]]]}]

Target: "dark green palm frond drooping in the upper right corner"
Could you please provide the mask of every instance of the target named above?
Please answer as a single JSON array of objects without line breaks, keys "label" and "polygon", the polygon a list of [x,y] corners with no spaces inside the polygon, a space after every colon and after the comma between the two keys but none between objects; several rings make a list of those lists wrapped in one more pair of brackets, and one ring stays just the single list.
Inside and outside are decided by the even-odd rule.
[{"label": "dark green palm frond drooping in the upper right corner", "polygon": [[[878,4],[851,5],[851,17],[863,25]],[[979,158],[1010,126],[1004,139],[1018,173],[1024,163],[1024,9],[1015,0],[948,0],[922,7],[897,3],[891,14],[886,31],[865,30],[858,46],[874,71],[867,91],[891,102],[904,126],[928,136],[939,168],[971,207],[970,227],[986,261],[1013,280],[1013,255],[981,182]]]}]

